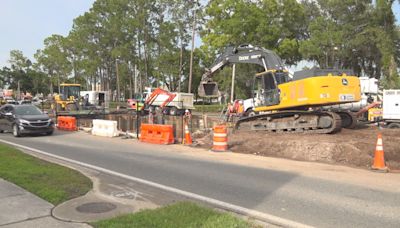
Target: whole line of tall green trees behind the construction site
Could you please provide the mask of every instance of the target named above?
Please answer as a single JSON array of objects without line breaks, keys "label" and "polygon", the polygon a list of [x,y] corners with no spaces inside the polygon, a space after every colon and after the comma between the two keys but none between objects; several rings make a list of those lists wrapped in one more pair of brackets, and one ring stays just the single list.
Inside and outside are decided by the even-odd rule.
[{"label": "whole line of tall green trees behind the construction site", "polygon": [[[394,0],[96,0],[73,21],[67,36],[54,34],[34,55],[10,53],[0,86],[53,93],[62,82],[132,97],[143,87],[187,91],[192,29],[192,92],[205,67],[225,47],[250,43],[278,53],[287,65],[307,60],[321,68],[352,69],[400,88],[400,33]],[[194,21],[195,20],[195,21]],[[254,66],[238,65],[236,94],[248,97]],[[231,69],[215,79],[230,89]]]}]

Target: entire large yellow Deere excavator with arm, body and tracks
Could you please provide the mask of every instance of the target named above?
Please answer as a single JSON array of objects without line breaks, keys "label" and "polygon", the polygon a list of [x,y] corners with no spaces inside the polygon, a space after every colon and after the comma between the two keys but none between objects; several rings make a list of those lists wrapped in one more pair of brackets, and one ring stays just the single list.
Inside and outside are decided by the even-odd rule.
[{"label": "entire large yellow Deere excavator with arm, body and tracks", "polygon": [[215,72],[230,64],[257,64],[264,72],[254,77],[253,116],[239,119],[235,128],[244,131],[294,131],[335,133],[353,128],[357,119],[350,112],[325,111],[322,107],[361,99],[360,81],[349,70],[317,69],[295,72],[289,77],[273,51],[250,44],[228,47],[202,76],[198,94],[218,96]]}]

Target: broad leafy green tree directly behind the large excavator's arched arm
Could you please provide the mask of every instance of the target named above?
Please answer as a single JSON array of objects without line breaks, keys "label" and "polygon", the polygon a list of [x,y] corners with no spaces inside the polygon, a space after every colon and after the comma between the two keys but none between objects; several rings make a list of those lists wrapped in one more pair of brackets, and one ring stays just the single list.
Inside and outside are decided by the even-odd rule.
[{"label": "broad leafy green tree directly behind the large excavator's arched arm", "polygon": [[[205,17],[201,49],[206,66],[227,46],[248,43],[275,51],[289,65],[301,60],[299,42],[307,38],[307,26],[304,8],[296,0],[215,0],[205,8]],[[236,98],[252,96],[251,81],[259,70],[237,64]],[[225,93],[231,89],[231,75],[224,69],[214,77]]]}]

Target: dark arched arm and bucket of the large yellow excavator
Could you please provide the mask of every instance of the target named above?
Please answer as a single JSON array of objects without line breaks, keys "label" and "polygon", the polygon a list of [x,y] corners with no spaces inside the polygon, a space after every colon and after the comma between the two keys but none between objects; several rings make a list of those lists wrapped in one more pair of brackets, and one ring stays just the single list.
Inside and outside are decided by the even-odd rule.
[{"label": "dark arched arm and bucket of the large yellow excavator", "polygon": [[203,74],[198,89],[199,96],[217,96],[218,85],[212,81],[213,75],[223,67],[236,63],[256,64],[262,66],[265,71],[282,71],[285,69],[281,58],[271,50],[255,47],[251,44],[243,44],[238,47],[230,46],[217,57],[211,68]]}]

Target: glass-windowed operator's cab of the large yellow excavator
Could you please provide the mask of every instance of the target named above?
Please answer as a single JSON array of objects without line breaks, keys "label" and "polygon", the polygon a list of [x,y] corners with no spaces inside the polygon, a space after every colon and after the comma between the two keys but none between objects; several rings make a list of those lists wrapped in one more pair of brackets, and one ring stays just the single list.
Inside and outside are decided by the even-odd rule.
[{"label": "glass-windowed operator's cab of the large yellow excavator", "polygon": [[271,106],[279,104],[279,89],[275,75],[271,72],[257,75],[255,78],[256,106]]}]

